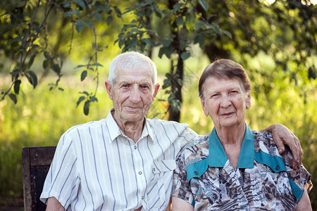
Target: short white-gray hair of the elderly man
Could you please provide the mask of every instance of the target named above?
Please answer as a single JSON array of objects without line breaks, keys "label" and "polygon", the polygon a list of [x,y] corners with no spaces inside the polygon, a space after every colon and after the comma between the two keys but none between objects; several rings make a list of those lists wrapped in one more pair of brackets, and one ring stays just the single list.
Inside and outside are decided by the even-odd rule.
[{"label": "short white-gray hair of the elderly man", "polygon": [[156,84],[157,80],[157,70],[155,63],[151,58],[138,53],[136,51],[129,51],[125,53],[120,53],[118,56],[113,58],[109,67],[108,80],[113,86],[113,82],[116,79],[116,71],[120,70],[137,70],[138,68],[147,68],[149,71],[153,71],[153,86]]}]

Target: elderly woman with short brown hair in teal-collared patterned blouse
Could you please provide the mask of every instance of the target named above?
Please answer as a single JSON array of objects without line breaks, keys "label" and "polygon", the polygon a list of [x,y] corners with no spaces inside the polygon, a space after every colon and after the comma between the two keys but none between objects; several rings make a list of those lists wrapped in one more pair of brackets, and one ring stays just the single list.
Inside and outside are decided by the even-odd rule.
[{"label": "elderly woman with short brown hair in teal-collared patterned blouse", "polygon": [[217,60],[199,80],[199,97],[214,128],[179,153],[173,210],[311,210],[311,175],[292,170],[292,154],[278,153],[271,133],[245,123],[251,84],[244,68]]}]

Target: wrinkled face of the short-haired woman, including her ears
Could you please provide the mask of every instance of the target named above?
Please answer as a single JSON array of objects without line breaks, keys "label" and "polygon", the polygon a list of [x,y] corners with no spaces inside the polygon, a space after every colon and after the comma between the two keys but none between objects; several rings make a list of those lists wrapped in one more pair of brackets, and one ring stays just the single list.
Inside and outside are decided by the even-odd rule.
[{"label": "wrinkled face of the short-haired woman, including her ears", "polygon": [[244,93],[237,79],[209,77],[204,84],[201,106],[218,129],[244,124],[245,110],[250,108],[250,92]]}]

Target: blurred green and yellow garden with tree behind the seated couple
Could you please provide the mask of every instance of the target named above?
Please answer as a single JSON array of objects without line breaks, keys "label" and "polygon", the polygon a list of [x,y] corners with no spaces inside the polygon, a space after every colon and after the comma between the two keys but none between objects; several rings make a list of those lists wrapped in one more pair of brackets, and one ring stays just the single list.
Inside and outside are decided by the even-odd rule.
[{"label": "blurred green and yellow garden with tree behind the seated couple", "polygon": [[157,65],[161,89],[147,117],[186,122],[198,134],[213,128],[198,98],[201,72],[217,58],[240,63],[252,84],[247,124],[288,127],[317,184],[316,4],[1,1],[0,210],[23,210],[23,146],[56,146],[73,125],[106,117],[108,65],[123,51]]}]

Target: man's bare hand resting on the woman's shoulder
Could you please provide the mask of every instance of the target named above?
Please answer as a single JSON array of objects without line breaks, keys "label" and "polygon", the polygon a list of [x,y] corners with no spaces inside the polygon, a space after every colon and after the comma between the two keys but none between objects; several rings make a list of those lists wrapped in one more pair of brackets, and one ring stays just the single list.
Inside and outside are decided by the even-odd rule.
[{"label": "man's bare hand resting on the woman's shoulder", "polygon": [[302,146],[297,136],[295,136],[290,129],[283,124],[272,124],[270,127],[262,129],[261,132],[271,132],[280,154],[285,153],[285,145],[288,145],[294,158],[292,164],[293,169],[298,170],[301,167],[303,155]]}]

